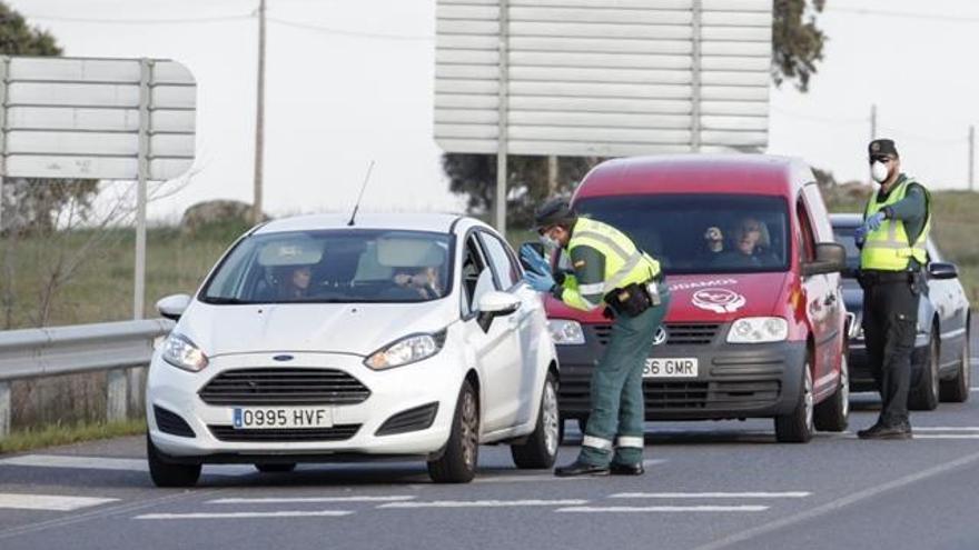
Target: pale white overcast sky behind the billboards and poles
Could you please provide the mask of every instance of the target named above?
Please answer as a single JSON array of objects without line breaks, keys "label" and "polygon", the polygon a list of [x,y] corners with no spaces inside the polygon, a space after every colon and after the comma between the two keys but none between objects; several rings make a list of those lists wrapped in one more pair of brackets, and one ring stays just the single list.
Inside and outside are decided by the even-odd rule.
[{"label": "pale white overcast sky behind the billboards and poles", "polygon": [[[372,159],[363,209],[461,209],[432,139],[435,0],[267,2],[266,211],[346,210]],[[200,200],[251,201],[257,22],[247,16],[258,0],[8,3],[50,30],[68,56],[170,58],[194,72],[199,171],[178,196],[151,204],[151,218],[176,220]],[[770,152],[803,157],[839,180],[866,178],[877,103],[878,134],[897,141],[906,171],[931,188],[967,187],[968,128],[979,121],[979,2],[828,4],[820,22],[830,42],[810,92],[772,92]],[[225,17],[239,18],[166,22]]]}]

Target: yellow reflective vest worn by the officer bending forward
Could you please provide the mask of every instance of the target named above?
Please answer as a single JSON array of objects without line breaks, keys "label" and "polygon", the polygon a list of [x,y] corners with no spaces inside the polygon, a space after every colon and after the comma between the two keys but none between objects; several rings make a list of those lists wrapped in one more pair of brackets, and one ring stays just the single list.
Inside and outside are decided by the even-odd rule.
[{"label": "yellow reflective vest worn by the officer bending forward", "polygon": [[567,253],[577,247],[590,247],[605,259],[601,282],[581,284],[574,276],[565,277],[561,300],[575,309],[593,310],[600,304],[587,297],[605,297],[614,289],[643,283],[660,274],[660,262],[646,254],[622,231],[589,218],[578,218],[571,232]]}]

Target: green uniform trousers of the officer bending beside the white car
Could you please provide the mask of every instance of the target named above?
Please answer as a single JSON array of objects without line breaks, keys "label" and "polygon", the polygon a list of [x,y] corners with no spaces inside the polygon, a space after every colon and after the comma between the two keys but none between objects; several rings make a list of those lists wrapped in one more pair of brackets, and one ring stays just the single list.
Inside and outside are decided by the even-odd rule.
[{"label": "green uniform trousers of the officer bending beside the white car", "polygon": [[605,466],[642,462],[645,407],[643,367],[666,309],[670,292],[660,284],[662,303],[639,317],[619,316],[605,353],[592,371],[592,409],[578,460]]}]

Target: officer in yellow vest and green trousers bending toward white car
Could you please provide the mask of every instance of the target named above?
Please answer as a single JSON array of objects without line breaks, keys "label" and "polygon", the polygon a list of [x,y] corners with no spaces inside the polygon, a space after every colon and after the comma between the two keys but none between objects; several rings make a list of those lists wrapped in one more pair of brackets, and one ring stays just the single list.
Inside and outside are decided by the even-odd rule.
[{"label": "officer in yellow vest and green trousers bending toward white car", "polygon": [[603,312],[615,320],[609,346],[592,372],[581,452],[554,473],[642,474],[643,367],[670,302],[660,263],[617,229],[578,217],[562,199],[542,206],[535,222],[545,240],[566,250],[573,272],[555,278],[543,257],[524,248],[521,254],[531,266],[527,283],[575,309],[604,307]]}]

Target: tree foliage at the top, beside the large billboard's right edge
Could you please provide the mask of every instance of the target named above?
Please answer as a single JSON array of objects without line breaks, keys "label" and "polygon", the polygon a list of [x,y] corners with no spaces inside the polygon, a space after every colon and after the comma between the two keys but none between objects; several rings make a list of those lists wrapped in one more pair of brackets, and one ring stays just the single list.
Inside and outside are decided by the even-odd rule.
[{"label": "tree foliage at the top, beside the large billboard's right edge", "polygon": [[809,90],[817,61],[822,61],[825,33],[815,14],[825,0],[775,0],[772,22],[772,80],[775,86],[795,80],[800,91]]}]

